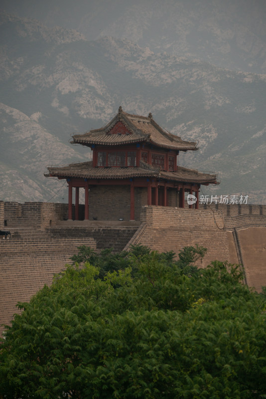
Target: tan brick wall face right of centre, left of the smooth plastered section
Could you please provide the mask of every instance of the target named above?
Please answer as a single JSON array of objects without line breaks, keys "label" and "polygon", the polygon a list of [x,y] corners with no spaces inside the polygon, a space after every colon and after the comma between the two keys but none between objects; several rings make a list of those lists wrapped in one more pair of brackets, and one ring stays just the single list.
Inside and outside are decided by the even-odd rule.
[{"label": "tan brick wall face right of centre, left of the smooth plastered section", "polygon": [[184,246],[198,244],[208,249],[203,266],[215,259],[231,261],[223,217],[210,209],[145,206],[140,220],[147,227],[139,244],[176,253]]}]

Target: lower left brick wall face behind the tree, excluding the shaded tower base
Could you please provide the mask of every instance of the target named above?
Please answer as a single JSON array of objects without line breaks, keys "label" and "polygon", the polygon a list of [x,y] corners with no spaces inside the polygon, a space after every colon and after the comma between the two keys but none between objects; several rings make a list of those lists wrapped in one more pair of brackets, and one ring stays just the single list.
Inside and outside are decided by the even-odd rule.
[{"label": "lower left brick wall face behind the tree, excluding the shaded tower base", "polygon": [[0,240],[0,323],[8,324],[18,301],[28,301],[63,269],[77,246],[96,248],[92,237],[49,237],[44,230],[21,228]]}]

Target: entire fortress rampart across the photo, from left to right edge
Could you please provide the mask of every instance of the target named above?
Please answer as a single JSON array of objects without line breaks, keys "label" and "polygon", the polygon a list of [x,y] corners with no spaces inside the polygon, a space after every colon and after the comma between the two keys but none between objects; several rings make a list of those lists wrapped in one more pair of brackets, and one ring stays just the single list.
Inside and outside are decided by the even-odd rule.
[{"label": "entire fortress rampart across the photo, from left to right edge", "polygon": [[[84,214],[82,205],[79,211]],[[241,258],[249,286],[260,291],[266,285],[266,205],[146,205],[138,221],[112,215],[112,220],[65,220],[67,212],[67,204],[0,201],[0,229],[11,232],[10,239],[0,238],[0,323],[10,322],[18,301],[51,284],[80,245],[120,251],[142,244],[177,254],[184,246],[203,245],[208,251],[200,266]]]}]

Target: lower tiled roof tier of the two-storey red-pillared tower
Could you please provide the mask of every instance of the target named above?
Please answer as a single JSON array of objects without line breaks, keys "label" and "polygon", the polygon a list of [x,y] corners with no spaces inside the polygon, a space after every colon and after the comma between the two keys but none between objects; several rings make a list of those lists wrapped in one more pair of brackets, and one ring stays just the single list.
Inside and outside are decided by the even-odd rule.
[{"label": "lower tiled roof tier of the two-storey red-pillared tower", "polygon": [[48,167],[46,177],[54,176],[61,178],[82,178],[82,179],[130,179],[137,177],[154,177],[157,179],[169,180],[174,182],[188,183],[212,183],[217,182],[217,175],[198,172],[196,169],[189,169],[182,166],[177,167],[176,172],[160,171],[139,161],[139,167],[99,167],[94,168],[92,161],[79,164],[70,164],[63,167]]}]

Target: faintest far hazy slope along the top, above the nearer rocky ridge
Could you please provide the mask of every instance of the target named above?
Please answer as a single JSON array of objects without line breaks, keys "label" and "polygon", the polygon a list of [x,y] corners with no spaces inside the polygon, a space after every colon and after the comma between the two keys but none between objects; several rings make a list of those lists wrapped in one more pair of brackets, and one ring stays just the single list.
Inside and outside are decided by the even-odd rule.
[{"label": "faintest far hazy slope along the top, above the nearer rocky ridge", "polygon": [[1,7],[89,40],[128,38],[154,52],[266,72],[264,0],[2,0]]}]

